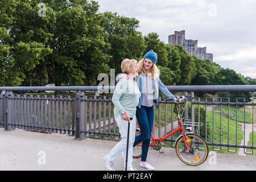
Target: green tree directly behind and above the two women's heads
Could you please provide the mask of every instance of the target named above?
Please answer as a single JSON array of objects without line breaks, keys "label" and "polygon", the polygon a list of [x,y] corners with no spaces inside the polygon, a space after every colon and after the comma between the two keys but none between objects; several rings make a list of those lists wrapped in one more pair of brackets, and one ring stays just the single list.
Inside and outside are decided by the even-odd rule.
[{"label": "green tree directly behind and above the two women's heads", "polygon": [[101,17],[100,25],[108,34],[107,42],[110,44],[106,49],[106,53],[111,56],[109,67],[115,69],[115,73],[121,73],[123,59],[139,61],[144,51],[143,36],[137,31],[139,21],[111,12],[105,12]]}]

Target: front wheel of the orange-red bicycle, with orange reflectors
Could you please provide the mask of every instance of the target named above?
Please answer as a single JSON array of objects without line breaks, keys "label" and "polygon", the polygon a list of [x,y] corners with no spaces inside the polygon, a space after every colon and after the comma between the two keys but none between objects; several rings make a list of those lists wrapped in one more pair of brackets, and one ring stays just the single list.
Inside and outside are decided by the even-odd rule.
[{"label": "front wheel of the orange-red bicycle, with orange reflectors", "polygon": [[176,153],[182,162],[190,166],[197,166],[205,162],[208,157],[208,146],[199,135],[187,134],[185,136],[191,150],[185,146],[184,138],[181,136],[176,143]]}]

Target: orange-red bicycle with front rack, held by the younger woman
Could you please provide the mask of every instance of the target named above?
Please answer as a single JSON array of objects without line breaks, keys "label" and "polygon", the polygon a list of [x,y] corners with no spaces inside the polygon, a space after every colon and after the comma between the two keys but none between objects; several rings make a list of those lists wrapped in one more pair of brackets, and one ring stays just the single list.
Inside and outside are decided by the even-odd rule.
[{"label": "orange-red bicycle with front rack, held by the younger woman", "polygon": [[[184,96],[176,97],[176,98],[180,101],[187,99]],[[166,101],[170,101],[170,100],[166,100]],[[163,154],[163,150],[160,150],[162,148],[162,142],[168,137],[170,137],[171,135],[175,134],[177,131],[181,131],[182,134],[179,135],[179,137],[177,137],[174,144],[176,154],[179,157],[179,159],[185,164],[188,164],[191,166],[197,166],[205,162],[205,160],[208,157],[209,151],[208,151],[208,146],[205,140],[201,138],[199,135],[196,135],[195,133],[193,133],[191,126],[197,126],[197,129],[198,129],[198,127],[202,126],[203,123],[183,122],[182,115],[184,113],[185,107],[187,106],[187,102],[185,102],[185,107],[184,107],[183,113],[181,114],[181,117],[177,109],[177,105],[178,104],[175,103],[177,118],[179,122],[178,127],[175,130],[171,131],[169,134],[161,138],[154,138],[154,135],[151,134],[150,147],[152,147],[152,149],[157,150],[161,154]],[[186,129],[184,129],[184,126],[190,126],[190,127],[187,127]],[[136,133],[137,135],[141,134],[139,125],[136,126]],[[140,158],[141,155],[142,155],[142,143],[139,143],[137,144],[137,146],[133,148],[133,158]]]}]

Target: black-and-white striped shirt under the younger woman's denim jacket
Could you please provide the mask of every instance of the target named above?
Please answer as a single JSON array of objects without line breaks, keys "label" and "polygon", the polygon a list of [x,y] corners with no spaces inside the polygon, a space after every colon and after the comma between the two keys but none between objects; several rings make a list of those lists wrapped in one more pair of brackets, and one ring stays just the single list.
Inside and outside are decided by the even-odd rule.
[{"label": "black-and-white striped shirt under the younger woman's denim jacket", "polygon": [[143,86],[143,100],[142,105],[151,107],[153,102],[153,96],[154,96],[154,88],[155,88],[155,81],[152,80],[152,74],[148,73],[147,76],[144,77],[144,86]]}]

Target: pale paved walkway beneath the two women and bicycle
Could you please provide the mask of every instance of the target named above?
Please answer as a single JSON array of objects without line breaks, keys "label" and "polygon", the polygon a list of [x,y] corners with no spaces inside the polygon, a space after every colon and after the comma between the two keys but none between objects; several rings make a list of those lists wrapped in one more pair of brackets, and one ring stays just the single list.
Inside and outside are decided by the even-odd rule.
[{"label": "pale paved walkway beneath the two women and bicycle", "polygon": [[[28,131],[4,131],[0,129],[0,170],[87,170],[104,171],[102,157],[116,142],[85,139],[60,134],[42,134]],[[233,154],[209,154],[200,166],[188,166],[177,158],[172,148],[164,148],[164,154],[150,150],[148,163],[157,171],[177,170],[256,170],[256,158]],[[137,169],[140,159],[134,159]],[[121,156],[114,168],[123,170]]]}]

